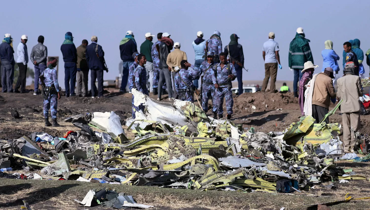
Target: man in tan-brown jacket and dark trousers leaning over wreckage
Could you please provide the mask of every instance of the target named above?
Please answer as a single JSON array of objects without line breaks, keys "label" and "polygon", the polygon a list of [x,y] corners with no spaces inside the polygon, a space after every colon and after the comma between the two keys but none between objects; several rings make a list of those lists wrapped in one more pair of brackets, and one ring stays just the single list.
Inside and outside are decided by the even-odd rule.
[{"label": "man in tan-brown jacket and dark trousers leaning over wreckage", "polygon": [[[312,94],[312,117],[315,123],[319,123],[329,112],[330,98],[336,97],[332,79],[334,71],[330,67],[326,67],[324,72],[316,76]],[[329,123],[329,118],[324,122]]]}]

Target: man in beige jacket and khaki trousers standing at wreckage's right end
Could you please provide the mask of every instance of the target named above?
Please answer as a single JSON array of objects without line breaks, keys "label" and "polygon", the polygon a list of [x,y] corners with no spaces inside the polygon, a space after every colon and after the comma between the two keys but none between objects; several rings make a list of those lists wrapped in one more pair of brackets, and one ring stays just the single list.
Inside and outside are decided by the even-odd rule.
[{"label": "man in beige jacket and khaki trousers standing at wreckage's right end", "polygon": [[340,113],[343,113],[344,153],[354,152],[355,139],[354,134],[351,134],[351,127],[355,133],[360,130],[361,105],[359,97],[363,96],[363,90],[360,77],[356,76],[354,72],[354,63],[348,62],[344,69],[344,76],[337,80],[338,101],[343,99],[342,104],[340,104]]}]

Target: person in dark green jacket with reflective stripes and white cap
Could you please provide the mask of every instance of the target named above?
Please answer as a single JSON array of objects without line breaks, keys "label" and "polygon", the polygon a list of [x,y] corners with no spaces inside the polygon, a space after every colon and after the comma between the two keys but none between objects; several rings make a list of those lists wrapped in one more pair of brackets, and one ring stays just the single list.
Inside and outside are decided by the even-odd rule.
[{"label": "person in dark green jacket with reflective stripes and white cap", "polygon": [[313,57],[309,45],[310,40],[305,38],[303,28],[297,29],[296,37],[290,42],[289,45],[289,68],[294,73],[293,92],[294,97],[298,97],[298,82],[302,78],[304,64],[307,61],[313,63]]}]

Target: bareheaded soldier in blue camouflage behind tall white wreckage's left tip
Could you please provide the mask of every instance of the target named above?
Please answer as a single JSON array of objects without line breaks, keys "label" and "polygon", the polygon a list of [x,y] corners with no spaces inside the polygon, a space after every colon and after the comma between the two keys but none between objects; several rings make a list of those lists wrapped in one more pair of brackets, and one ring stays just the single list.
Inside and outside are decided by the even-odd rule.
[{"label": "bareheaded soldier in blue camouflage behind tall white wreckage's left tip", "polygon": [[[134,86],[138,91],[149,95],[147,88],[147,70],[144,67],[144,64],[147,63],[147,59],[143,54],[139,54],[137,60],[139,61],[139,64],[134,71]],[[135,111],[139,110],[144,111],[144,106],[142,106],[142,104],[140,104],[139,106],[134,106],[134,95],[132,95],[132,118],[136,117]]]}]

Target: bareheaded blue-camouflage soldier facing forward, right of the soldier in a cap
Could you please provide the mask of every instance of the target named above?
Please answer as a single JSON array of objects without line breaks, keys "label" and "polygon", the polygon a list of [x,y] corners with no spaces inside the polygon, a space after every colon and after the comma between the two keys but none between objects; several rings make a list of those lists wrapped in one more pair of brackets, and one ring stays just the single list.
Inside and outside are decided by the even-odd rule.
[{"label": "bareheaded blue-camouflage soldier facing forward, right of the soldier in a cap", "polygon": [[[231,81],[235,80],[236,78],[236,71],[235,67],[232,63],[228,63],[226,60],[226,54],[220,53],[220,61],[221,63],[217,64],[216,66],[216,74],[217,74],[217,83],[216,87],[216,96],[217,96],[217,104],[218,104],[218,116],[221,119],[223,117],[223,97],[226,99],[226,110],[228,112],[227,119],[231,119],[232,106],[234,105],[234,100],[232,98],[232,91],[231,91]],[[215,81],[213,81],[215,83]]]}]

